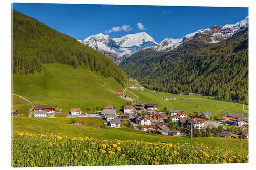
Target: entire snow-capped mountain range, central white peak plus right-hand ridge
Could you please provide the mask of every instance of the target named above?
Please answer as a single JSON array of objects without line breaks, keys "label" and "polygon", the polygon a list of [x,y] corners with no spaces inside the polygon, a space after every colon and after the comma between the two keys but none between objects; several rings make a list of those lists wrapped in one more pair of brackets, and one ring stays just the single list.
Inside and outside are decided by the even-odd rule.
[{"label": "entire snow-capped mountain range, central white peak plus right-hand ridge", "polygon": [[100,33],[91,35],[83,41],[78,41],[102,52],[118,64],[127,56],[148,48],[156,51],[169,51],[195,38],[208,43],[218,43],[227,40],[239,31],[247,28],[248,20],[249,17],[247,16],[235,24],[226,24],[222,27],[212,26],[211,28],[198,30],[177,39],[165,38],[160,44],[145,32],[127,34],[121,38],[110,38],[109,35]]}]

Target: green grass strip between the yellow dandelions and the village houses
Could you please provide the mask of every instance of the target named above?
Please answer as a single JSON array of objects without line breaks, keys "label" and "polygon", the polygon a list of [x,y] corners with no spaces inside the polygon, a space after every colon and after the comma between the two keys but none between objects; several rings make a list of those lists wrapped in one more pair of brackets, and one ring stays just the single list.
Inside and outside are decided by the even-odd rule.
[{"label": "green grass strip between the yellow dandelions and the village houses", "polygon": [[[75,118],[77,119],[77,118]],[[184,138],[175,136],[165,136],[157,134],[148,134],[138,130],[129,128],[100,128],[102,119],[99,118],[81,118],[84,125],[71,125],[70,118],[56,119],[37,119],[27,117],[14,117],[13,131],[29,132],[36,134],[56,134],[61,133],[62,136],[78,137],[88,136],[107,140],[138,140],[148,142],[163,143],[204,143],[206,146],[221,147],[225,149],[233,149],[237,147],[237,139],[228,138]],[[248,150],[248,140],[242,140],[243,150]]]}]

